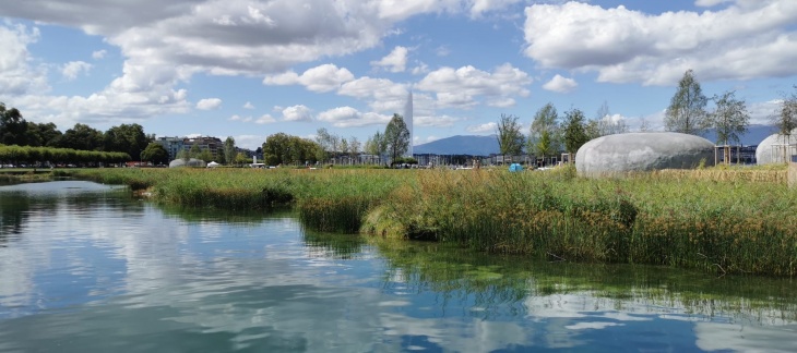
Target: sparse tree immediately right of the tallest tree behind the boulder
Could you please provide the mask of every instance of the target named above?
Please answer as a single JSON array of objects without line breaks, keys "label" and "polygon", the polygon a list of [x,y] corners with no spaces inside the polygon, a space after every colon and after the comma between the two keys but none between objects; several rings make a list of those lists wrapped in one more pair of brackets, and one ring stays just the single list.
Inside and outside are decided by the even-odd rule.
[{"label": "sparse tree immediately right of the tallest tree behind the boulder", "polygon": [[716,129],[716,144],[728,145],[739,143],[739,135],[747,131],[750,123],[750,113],[745,100],[736,99],[733,90],[712,98],[715,102],[714,111],[709,114],[711,125]]}]

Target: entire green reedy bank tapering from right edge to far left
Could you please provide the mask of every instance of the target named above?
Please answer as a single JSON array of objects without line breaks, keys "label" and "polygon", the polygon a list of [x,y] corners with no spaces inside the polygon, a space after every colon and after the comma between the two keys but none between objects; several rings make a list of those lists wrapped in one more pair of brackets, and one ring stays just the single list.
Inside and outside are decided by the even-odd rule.
[{"label": "entire green reedy bank tapering from right edge to far left", "polygon": [[293,205],[310,229],[716,275],[797,275],[797,192],[785,169],[665,171],[588,180],[570,169],[70,171],[148,188],[157,202]]}]

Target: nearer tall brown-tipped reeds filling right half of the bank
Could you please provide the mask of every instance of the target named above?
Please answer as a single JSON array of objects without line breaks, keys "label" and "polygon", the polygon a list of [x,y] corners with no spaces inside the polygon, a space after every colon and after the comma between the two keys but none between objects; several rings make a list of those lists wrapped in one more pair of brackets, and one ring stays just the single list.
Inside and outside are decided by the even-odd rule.
[{"label": "nearer tall brown-tipped reeds filling right half of the bank", "polygon": [[[695,174],[440,172],[419,175],[417,187],[400,186],[381,211],[398,223],[391,230],[404,232],[393,235],[492,253],[797,275],[797,193],[781,178]],[[385,229],[371,227],[376,234]]]}]

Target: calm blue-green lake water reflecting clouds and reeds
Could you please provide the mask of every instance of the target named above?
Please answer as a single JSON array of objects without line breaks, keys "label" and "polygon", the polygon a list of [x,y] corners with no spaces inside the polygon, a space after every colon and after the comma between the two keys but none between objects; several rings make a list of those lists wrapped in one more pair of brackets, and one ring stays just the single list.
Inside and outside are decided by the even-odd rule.
[{"label": "calm blue-green lake water reflecting clouds and reeds", "polygon": [[795,352],[795,290],[0,186],[0,352]]}]

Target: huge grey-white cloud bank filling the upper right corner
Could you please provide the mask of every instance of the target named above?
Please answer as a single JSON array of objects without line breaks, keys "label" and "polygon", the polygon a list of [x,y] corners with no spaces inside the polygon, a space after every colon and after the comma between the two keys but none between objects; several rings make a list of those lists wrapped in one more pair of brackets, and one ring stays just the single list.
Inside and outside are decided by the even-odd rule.
[{"label": "huge grey-white cloud bank filling the upper right corner", "polygon": [[525,15],[527,57],[544,68],[596,71],[599,82],[673,85],[688,69],[709,81],[797,74],[795,1],[656,15],[573,1],[534,4]]}]

